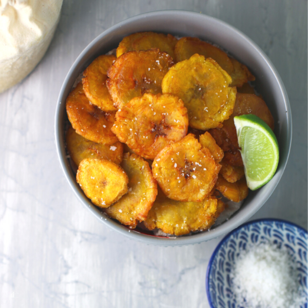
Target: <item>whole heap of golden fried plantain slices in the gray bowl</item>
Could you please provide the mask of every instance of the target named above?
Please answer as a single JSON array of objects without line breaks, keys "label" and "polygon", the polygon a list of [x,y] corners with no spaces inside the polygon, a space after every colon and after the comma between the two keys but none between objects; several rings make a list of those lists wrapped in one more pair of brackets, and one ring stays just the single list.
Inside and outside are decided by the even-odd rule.
[{"label": "whole heap of golden fried plantain slices in the gray bowl", "polygon": [[134,33],[116,53],[97,57],[66,100],[76,181],[129,228],[209,229],[227,199],[248,194],[234,117],[252,113],[274,128],[254,76],[194,37]]}]

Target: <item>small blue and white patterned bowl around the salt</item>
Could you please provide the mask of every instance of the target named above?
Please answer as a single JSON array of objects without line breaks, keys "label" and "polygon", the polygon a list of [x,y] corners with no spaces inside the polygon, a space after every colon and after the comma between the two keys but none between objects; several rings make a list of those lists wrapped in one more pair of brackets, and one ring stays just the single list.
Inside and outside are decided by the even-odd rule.
[{"label": "small blue and white patterned bowl around the salt", "polygon": [[[211,256],[206,273],[206,293],[211,308],[242,308],[233,296],[233,267],[247,247],[268,242],[290,253],[307,298],[307,231],[284,220],[260,219],[234,229],[221,240]],[[307,302],[300,308],[307,308]]]}]

